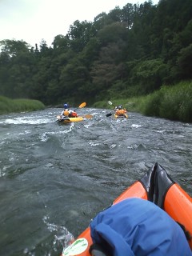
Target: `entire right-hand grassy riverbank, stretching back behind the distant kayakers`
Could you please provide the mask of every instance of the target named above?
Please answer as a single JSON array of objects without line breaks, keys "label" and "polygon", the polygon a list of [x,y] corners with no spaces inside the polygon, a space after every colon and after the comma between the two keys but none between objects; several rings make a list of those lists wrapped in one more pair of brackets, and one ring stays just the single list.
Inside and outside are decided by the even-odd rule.
[{"label": "entire right-hand grassy riverbank, stretching back behind the distant kayakers", "polygon": [[[192,82],[162,86],[161,90],[143,97],[110,100],[115,106],[122,104],[128,111],[139,112],[146,116],[192,122]],[[107,102],[97,102],[94,106],[111,109]]]}]

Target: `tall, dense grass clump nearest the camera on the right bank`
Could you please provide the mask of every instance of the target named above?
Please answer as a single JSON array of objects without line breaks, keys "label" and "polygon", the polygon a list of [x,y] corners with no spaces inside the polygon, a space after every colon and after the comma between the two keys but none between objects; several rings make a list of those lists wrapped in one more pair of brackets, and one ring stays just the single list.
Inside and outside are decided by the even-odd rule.
[{"label": "tall, dense grass clump nearest the camera on the right bank", "polygon": [[161,90],[146,96],[141,112],[147,116],[192,122],[192,82],[162,86]]}]

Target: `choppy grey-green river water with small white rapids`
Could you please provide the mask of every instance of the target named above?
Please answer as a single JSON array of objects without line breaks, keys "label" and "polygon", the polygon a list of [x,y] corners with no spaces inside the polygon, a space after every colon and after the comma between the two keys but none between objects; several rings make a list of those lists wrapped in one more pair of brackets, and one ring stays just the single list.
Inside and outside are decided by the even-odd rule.
[{"label": "choppy grey-green river water with small white rapids", "polygon": [[0,116],[0,255],[59,256],[99,210],[155,163],[192,194],[192,124],[83,108]]}]

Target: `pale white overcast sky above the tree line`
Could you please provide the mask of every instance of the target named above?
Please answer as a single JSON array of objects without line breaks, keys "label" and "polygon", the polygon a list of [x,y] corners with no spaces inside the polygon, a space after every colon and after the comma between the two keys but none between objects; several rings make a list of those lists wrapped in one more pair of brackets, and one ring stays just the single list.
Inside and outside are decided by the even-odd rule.
[{"label": "pale white overcast sky above the tree line", "polygon": [[[79,20],[93,22],[102,12],[115,6],[144,0],[0,0],[0,41],[23,40],[31,46],[46,40],[48,46],[58,34],[66,35]],[[158,0],[153,0],[157,4]]]}]

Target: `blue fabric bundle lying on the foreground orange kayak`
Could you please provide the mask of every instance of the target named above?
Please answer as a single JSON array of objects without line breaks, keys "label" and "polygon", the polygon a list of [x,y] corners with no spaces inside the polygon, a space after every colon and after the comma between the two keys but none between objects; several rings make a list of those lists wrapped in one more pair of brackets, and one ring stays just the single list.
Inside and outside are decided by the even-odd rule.
[{"label": "blue fabric bundle lying on the foreground orange kayak", "polygon": [[153,202],[129,198],[100,212],[90,222],[94,243],[111,256],[191,256],[177,222]]}]

